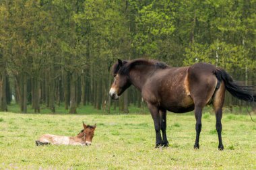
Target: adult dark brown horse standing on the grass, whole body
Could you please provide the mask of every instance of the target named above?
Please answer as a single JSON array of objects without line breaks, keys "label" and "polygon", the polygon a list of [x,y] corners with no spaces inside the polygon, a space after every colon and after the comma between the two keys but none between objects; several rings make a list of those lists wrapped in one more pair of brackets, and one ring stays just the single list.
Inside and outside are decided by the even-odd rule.
[{"label": "adult dark brown horse standing on the grass, whole body", "polygon": [[195,110],[194,148],[199,148],[202,110],[205,105],[212,104],[216,114],[218,148],[223,150],[221,119],[225,89],[238,99],[256,101],[253,87],[238,85],[224,69],[207,63],[197,63],[190,67],[169,67],[156,60],[118,60],[113,65],[113,76],[115,80],[109,91],[113,99],[119,99],[130,85],[141,91],[154,120],[156,147],[168,146],[166,110],[174,113]]}]

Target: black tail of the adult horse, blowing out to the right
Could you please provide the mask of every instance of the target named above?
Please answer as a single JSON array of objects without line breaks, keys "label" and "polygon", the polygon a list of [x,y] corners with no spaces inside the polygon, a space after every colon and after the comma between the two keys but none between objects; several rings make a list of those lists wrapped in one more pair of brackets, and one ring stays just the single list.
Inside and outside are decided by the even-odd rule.
[{"label": "black tail of the adult horse, blowing out to the right", "polygon": [[226,89],[234,97],[245,101],[256,102],[256,94],[253,93],[253,86],[238,85],[224,69],[216,69],[214,75],[216,75],[219,81],[224,81]]}]

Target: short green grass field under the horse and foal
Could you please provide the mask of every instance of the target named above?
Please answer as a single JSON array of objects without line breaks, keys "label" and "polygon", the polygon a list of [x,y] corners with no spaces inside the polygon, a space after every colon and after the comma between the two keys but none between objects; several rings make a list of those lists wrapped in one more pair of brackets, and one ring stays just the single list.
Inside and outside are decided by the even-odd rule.
[{"label": "short green grass field under the horse and foal", "polygon": [[[0,112],[0,169],[256,169],[256,124],[225,114],[224,151],[218,151],[215,116],[203,114],[200,149],[195,118],[167,116],[168,148],[154,148],[150,114],[69,115]],[[35,146],[41,134],[75,136],[82,121],[97,123],[92,146]]]}]

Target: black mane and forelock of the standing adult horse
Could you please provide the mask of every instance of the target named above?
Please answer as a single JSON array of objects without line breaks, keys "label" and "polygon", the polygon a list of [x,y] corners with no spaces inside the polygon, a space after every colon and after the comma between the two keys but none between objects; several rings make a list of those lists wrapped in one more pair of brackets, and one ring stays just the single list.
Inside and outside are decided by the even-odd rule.
[{"label": "black mane and forelock of the standing adult horse", "polygon": [[143,58],[135,59],[135,60],[123,60],[123,66],[120,68],[119,63],[117,62],[113,65],[112,73],[113,75],[119,72],[121,75],[128,75],[129,71],[138,65],[145,65],[145,66],[154,66],[155,69],[166,69],[168,65],[164,62],[160,62],[158,60],[147,60]]}]

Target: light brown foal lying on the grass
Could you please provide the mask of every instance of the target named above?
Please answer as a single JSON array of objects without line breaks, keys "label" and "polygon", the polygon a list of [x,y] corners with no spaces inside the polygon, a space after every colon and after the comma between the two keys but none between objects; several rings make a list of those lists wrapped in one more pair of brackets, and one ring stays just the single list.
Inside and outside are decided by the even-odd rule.
[{"label": "light brown foal lying on the grass", "polygon": [[77,134],[77,136],[58,136],[54,134],[43,134],[38,140],[36,140],[36,145],[46,145],[46,144],[65,144],[65,145],[91,145],[92,138],[94,137],[94,126],[86,125],[83,122],[84,129]]}]

